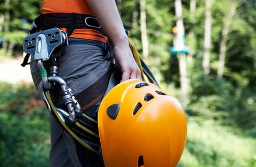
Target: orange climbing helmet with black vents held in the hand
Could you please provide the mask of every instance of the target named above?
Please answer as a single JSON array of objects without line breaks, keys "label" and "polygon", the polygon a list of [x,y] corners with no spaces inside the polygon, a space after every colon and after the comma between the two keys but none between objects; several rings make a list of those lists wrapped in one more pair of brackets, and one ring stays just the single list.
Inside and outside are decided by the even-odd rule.
[{"label": "orange climbing helmet with black vents held in the hand", "polygon": [[119,83],[106,95],[98,127],[105,167],[174,167],[187,136],[180,103],[138,79]]}]

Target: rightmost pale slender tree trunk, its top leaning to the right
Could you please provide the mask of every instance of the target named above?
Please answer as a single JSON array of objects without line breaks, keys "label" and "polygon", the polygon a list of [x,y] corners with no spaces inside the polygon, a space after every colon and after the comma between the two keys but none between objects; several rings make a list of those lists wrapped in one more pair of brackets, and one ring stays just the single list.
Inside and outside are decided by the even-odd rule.
[{"label": "rightmost pale slender tree trunk, its top leaning to the right", "polygon": [[222,30],[222,38],[221,38],[221,44],[220,44],[220,56],[219,56],[219,67],[218,67],[218,78],[223,77],[224,73],[224,66],[225,66],[225,55],[227,50],[227,37],[229,33],[229,26],[230,22],[233,19],[235,13],[236,13],[236,6],[237,4],[233,4],[230,8],[230,11],[224,20],[224,26]]}]

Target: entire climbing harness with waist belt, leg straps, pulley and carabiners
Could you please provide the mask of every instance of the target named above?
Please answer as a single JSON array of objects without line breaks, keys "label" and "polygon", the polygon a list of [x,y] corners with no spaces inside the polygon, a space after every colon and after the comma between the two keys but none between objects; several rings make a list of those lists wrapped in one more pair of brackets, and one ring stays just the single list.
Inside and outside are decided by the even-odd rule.
[{"label": "entire climbing harness with waist belt, leg straps, pulley and carabiners", "polygon": [[[67,28],[67,32],[59,28]],[[47,109],[62,129],[72,135],[85,148],[98,154],[100,151],[98,122],[92,116],[89,116],[87,111],[96,110],[94,115],[96,117],[99,107],[94,105],[100,104],[106,94],[118,83],[112,86],[109,85],[110,80],[114,80],[115,67],[111,66],[99,80],[75,96],[65,80],[58,76],[60,52],[62,48],[69,44],[68,36],[74,29],[78,28],[94,29],[105,35],[97,19],[93,16],[77,13],[41,14],[40,17],[33,21],[29,31],[30,35],[23,40],[23,49],[27,55],[21,65],[29,64],[29,56],[33,57],[33,62],[31,63],[37,63],[42,79],[38,86],[38,92]],[[39,30],[42,31],[39,32]],[[125,31],[135,61],[141,69],[142,79],[145,81],[143,74],[145,73],[148,80],[159,87],[153,74],[135,48],[130,32],[128,30]],[[49,75],[44,67],[45,61],[51,61],[52,63]],[[52,95],[57,93],[57,87],[60,87],[59,95],[63,99],[63,105],[58,108],[52,102]]]}]

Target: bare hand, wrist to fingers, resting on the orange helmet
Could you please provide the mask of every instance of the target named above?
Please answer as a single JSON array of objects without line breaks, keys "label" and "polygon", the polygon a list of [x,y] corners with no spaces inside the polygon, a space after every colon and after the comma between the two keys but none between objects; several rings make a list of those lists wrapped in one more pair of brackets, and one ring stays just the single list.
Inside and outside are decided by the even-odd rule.
[{"label": "bare hand, wrist to fingers, resting on the orange helmet", "polygon": [[141,71],[138,67],[129,45],[117,44],[114,46],[115,63],[122,71],[121,82],[127,79],[141,79]]}]

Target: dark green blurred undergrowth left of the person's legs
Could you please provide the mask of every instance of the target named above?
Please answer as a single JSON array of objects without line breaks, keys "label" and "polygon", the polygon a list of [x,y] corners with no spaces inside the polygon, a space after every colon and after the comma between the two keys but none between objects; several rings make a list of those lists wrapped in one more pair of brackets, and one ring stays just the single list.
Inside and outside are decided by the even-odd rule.
[{"label": "dark green blurred undergrowth left of the person's legs", "polygon": [[49,112],[33,87],[0,82],[1,166],[49,166]]}]

